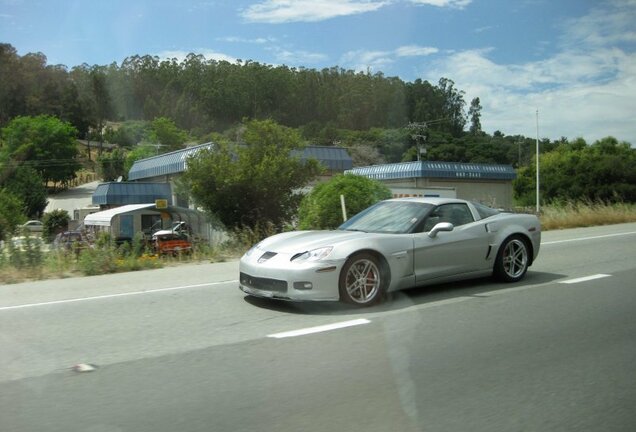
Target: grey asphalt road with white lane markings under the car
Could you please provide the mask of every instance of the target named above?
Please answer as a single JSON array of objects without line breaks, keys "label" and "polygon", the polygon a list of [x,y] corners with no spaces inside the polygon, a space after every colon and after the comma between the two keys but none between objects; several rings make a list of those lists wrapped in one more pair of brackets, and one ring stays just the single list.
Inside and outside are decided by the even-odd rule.
[{"label": "grey asphalt road with white lane markings under the car", "polygon": [[235,262],[0,287],[0,431],[636,430],[636,224],[543,240],[519,284],[370,309]]}]

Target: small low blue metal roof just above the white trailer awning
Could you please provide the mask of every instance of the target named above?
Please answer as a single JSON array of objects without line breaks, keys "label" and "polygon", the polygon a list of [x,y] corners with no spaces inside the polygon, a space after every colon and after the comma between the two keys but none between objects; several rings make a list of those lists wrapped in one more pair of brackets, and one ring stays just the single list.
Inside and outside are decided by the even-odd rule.
[{"label": "small low blue metal roof just above the white trailer awning", "polygon": [[146,204],[156,199],[166,199],[172,204],[168,183],[101,183],[93,193],[94,205]]}]

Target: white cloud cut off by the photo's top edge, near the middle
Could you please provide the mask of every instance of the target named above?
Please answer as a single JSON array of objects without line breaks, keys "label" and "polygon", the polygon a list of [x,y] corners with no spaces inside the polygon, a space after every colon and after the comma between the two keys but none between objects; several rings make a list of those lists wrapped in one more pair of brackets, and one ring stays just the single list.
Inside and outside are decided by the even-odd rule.
[{"label": "white cloud cut off by the photo's top edge, near the middle", "polygon": [[373,12],[390,0],[265,0],[241,12],[249,22],[280,24],[316,22],[330,18]]}]

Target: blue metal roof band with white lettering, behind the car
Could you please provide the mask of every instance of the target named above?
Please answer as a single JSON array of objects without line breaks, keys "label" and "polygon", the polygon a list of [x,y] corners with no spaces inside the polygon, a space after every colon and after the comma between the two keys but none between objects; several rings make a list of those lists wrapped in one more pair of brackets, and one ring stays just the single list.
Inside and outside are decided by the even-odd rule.
[{"label": "blue metal roof band with white lettering, behind the car", "polygon": [[448,178],[512,180],[517,173],[511,165],[487,165],[457,162],[414,161],[386,165],[353,168],[346,173],[357,174],[376,180],[401,178]]}]

